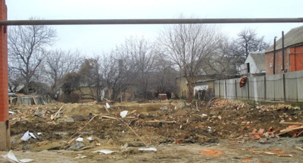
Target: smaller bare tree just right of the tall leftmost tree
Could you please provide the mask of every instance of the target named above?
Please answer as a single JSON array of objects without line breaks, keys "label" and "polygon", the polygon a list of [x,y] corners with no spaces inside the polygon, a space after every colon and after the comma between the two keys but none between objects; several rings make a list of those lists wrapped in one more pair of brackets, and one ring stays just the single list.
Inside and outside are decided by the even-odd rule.
[{"label": "smaller bare tree just right of the tall leftmost tree", "polygon": [[78,71],[82,58],[78,51],[56,49],[46,53],[44,63],[44,73],[50,81],[53,92],[57,94],[64,75]]}]

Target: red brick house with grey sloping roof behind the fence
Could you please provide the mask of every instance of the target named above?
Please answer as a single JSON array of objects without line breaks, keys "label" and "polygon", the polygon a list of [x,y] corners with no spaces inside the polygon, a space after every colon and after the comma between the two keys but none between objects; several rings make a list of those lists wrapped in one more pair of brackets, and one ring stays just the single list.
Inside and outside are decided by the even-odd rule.
[{"label": "red brick house with grey sloping roof behind the fence", "polygon": [[[283,73],[282,38],[276,41],[275,74]],[[284,35],[285,72],[303,70],[303,26]],[[266,75],[273,74],[273,45],[265,51]]]}]

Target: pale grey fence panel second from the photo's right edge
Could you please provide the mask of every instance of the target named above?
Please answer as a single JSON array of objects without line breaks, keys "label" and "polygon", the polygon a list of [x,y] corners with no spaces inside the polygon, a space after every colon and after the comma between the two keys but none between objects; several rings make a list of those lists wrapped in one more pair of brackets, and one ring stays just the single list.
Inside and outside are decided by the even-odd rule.
[{"label": "pale grey fence panel second from the photo's right edge", "polygon": [[297,90],[297,74],[298,72],[285,73],[285,96],[286,101],[297,102],[298,90]]}]

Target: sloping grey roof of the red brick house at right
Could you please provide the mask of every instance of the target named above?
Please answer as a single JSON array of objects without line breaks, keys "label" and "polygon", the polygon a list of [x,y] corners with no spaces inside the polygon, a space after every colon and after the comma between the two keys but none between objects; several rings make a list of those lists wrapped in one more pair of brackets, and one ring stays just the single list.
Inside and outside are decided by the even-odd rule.
[{"label": "sloping grey roof of the red brick house at right", "polygon": [[[284,47],[290,47],[293,45],[303,43],[303,26],[293,28],[284,35]],[[276,50],[282,49],[282,37],[276,41]],[[273,51],[273,45],[271,45],[265,52]]]}]

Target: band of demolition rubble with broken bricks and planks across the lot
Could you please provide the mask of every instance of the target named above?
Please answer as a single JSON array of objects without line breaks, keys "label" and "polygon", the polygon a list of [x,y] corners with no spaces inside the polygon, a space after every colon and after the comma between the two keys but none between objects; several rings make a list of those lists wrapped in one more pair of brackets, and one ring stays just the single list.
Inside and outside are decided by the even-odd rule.
[{"label": "band of demolition rubble with broken bricks and planks across the lot", "polygon": [[[300,139],[298,152],[303,147],[303,109],[281,103],[262,105],[213,98],[192,103],[165,100],[12,105],[10,124],[14,151],[94,151],[75,155],[77,159],[92,159],[100,154],[129,155],[134,150],[159,153],[161,146],[265,144],[284,137]],[[208,158],[212,150],[200,149],[200,153]],[[253,152],[254,156],[294,155]]]}]

